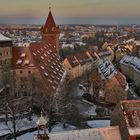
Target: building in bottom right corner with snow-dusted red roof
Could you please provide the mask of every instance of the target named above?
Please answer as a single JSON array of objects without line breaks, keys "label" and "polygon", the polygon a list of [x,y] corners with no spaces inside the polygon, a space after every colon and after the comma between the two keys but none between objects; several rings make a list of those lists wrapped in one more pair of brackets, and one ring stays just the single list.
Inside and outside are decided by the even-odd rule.
[{"label": "building in bottom right corner with snow-dusted red roof", "polygon": [[139,140],[140,101],[121,101],[112,113],[111,125],[119,126],[122,140]]}]

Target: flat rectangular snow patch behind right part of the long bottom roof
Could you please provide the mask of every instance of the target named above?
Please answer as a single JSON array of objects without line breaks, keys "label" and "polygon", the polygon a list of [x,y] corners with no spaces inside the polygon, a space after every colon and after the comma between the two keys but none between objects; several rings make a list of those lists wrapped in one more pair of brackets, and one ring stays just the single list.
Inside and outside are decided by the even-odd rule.
[{"label": "flat rectangular snow patch behind right part of the long bottom roof", "polygon": [[91,128],[108,127],[110,126],[110,120],[87,121],[87,125]]}]

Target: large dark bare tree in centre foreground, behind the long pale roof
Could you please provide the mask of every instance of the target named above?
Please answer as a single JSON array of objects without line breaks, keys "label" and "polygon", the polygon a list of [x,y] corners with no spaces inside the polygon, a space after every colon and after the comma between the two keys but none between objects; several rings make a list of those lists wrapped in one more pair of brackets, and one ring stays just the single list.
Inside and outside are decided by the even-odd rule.
[{"label": "large dark bare tree in centre foreground, behind the long pale roof", "polygon": [[40,99],[40,108],[48,116],[49,132],[59,122],[63,123],[64,127],[66,123],[81,127],[83,117],[75,104],[74,97],[61,91],[58,94],[45,94]]}]

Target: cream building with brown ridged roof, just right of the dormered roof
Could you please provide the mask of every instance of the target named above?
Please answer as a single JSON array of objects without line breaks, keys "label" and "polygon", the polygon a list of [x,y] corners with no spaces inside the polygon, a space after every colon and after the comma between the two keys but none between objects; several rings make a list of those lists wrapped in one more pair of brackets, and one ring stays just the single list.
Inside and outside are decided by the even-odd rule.
[{"label": "cream building with brown ridged roof, just right of the dormered roof", "polygon": [[69,55],[63,62],[69,80],[80,77],[96,68],[99,57],[91,51]]}]

